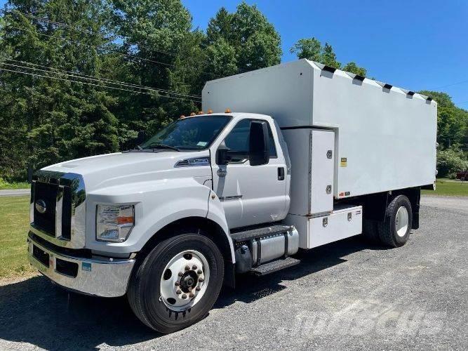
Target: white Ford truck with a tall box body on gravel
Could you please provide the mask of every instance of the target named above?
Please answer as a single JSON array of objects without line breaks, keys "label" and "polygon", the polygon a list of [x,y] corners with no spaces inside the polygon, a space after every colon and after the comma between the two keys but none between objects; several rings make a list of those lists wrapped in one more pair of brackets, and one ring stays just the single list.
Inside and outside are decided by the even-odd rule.
[{"label": "white Ford truck with a tall box body on gravel", "polygon": [[126,294],[170,333],[236,274],[361,233],[398,247],[418,227],[435,186],[431,98],[299,60],[209,81],[202,108],[135,150],[37,171],[30,263],[71,291]]}]

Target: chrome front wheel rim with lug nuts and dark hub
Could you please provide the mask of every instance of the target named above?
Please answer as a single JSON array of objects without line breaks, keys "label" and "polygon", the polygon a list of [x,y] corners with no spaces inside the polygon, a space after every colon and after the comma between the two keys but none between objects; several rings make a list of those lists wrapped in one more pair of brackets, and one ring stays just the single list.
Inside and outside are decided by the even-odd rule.
[{"label": "chrome front wheel rim with lug nuts and dark hub", "polygon": [[201,300],[209,280],[210,268],[205,256],[199,251],[182,251],[163,270],[159,300],[170,310],[189,310]]}]

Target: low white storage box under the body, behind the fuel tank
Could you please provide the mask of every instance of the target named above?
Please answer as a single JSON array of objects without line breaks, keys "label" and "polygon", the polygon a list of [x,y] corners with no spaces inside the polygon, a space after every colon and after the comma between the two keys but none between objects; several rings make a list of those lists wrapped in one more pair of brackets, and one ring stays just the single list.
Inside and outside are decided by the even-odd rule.
[{"label": "low white storage box under the body, behind the fuel tank", "polygon": [[362,232],[362,206],[340,205],[328,216],[288,215],[283,221],[299,232],[299,247],[312,249]]}]

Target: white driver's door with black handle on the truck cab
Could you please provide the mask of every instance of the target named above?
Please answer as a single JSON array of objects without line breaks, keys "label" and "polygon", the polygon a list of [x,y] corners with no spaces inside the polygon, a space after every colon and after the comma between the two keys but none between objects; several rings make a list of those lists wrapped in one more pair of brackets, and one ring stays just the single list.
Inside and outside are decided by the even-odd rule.
[{"label": "white driver's door with black handle on the truck cab", "polygon": [[[250,122],[241,119],[224,139],[229,150],[248,154]],[[282,219],[286,211],[286,162],[276,150],[278,135],[269,128],[269,161],[250,166],[248,158],[216,164],[213,155],[213,190],[220,198],[229,228],[269,223]],[[275,133],[276,134],[276,133]]]}]

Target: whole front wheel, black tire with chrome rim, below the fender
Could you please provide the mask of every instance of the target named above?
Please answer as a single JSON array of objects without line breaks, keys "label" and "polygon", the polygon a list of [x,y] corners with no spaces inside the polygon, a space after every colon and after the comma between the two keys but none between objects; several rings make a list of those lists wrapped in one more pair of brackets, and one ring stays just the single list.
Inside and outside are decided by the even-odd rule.
[{"label": "whole front wheel, black tire with chrome rim, below the fender", "polygon": [[161,241],[133,273],[128,301],[150,328],[172,333],[199,322],[221,290],[224,261],[218,246],[201,234]]}]

